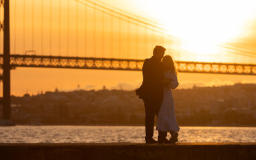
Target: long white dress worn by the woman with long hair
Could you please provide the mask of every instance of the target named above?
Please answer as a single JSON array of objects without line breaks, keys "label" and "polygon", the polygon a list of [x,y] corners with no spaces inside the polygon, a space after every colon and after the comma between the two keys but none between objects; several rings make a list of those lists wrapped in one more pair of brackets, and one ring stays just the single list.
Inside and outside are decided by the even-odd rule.
[{"label": "long white dress worn by the woman with long hair", "polygon": [[179,85],[177,75],[172,71],[166,71],[164,77],[170,79],[172,83],[168,87],[164,87],[164,99],[158,113],[156,130],[178,132],[180,127],[176,120],[174,98],[172,97],[172,89],[176,89]]}]

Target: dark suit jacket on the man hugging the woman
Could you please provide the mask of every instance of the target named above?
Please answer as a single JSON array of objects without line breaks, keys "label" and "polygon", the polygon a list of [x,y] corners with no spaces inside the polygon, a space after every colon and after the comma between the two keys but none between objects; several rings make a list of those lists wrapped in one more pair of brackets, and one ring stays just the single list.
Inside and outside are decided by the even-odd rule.
[{"label": "dark suit jacket on the man hugging the woman", "polygon": [[164,86],[161,83],[164,79],[163,64],[161,61],[157,61],[155,57],[145,59],[142,73],[143,83],[136,90],[136,93],[144,102],[157,104],[153,110],[158,113],[164,97]]}]

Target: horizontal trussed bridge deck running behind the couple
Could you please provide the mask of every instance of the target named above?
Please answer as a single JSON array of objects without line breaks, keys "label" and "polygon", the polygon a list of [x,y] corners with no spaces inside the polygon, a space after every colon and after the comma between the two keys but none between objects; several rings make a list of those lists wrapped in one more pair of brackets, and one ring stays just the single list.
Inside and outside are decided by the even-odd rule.
[{"label": "horizontal trussed bridge deck running behind the couple", "polygon": [[[0,55],[0,66],[3,55]],[[59,57],[42,55],[11,55],[11,67],[46,67],[70,69],[109,69],[141,71],[143,59],[107,59],[93,57]],[[178,72],[256,75],[256,65],[176,61]]]}]

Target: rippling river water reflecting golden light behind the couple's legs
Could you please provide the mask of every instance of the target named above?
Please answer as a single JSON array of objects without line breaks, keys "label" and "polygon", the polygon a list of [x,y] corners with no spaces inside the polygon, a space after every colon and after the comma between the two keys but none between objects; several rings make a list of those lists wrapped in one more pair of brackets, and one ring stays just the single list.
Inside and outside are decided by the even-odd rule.
[{"label": "rippling river water reflecting golden light behind the couple's legs", "polygon": [[[144,143],[144,136],[143,126],[0,127],[0,143]],[[256,143],[256,127],[180,127],[178,139],[183,143]]]}]

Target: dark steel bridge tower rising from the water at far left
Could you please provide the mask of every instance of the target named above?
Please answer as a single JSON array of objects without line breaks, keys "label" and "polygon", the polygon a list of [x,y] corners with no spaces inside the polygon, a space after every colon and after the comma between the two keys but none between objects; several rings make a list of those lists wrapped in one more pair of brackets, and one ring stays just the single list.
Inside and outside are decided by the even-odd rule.
[{"label": "dark steel bridge tower rising from the water at far left", "polygon": [[11,123],[11,84],[10,84],[10,26],[9,26],[9,0],[1,0],[4,10],[3,23],[3,116],[0,125],[13,125]]}]

